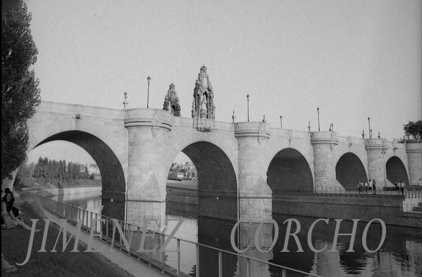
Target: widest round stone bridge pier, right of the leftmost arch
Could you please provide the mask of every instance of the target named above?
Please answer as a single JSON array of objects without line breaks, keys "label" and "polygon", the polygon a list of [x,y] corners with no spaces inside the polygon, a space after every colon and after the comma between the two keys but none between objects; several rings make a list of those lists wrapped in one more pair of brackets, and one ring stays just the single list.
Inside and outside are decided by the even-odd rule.
[{"label": "widest round stone bridge pier, right of the leftmost arch", "polygon": [[157,220],[148,228],[162,229],[166,215],[168,133],[171,114],[154,109],[126,111],[128,129],[128,181],[126,190],[127,222],[142,225],[143,220]]}]

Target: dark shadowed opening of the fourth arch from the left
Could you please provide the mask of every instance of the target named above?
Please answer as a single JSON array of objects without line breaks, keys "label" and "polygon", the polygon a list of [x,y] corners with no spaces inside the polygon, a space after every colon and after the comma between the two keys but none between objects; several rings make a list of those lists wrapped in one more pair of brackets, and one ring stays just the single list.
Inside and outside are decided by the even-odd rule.
[{"label": "dark shadowed opening of the fourth arch from the left", "polygon": [[346,191],[356,191],[357,181],[367,182],[362,161],[353,153],[345,153],[336,164],[336,179]]}]

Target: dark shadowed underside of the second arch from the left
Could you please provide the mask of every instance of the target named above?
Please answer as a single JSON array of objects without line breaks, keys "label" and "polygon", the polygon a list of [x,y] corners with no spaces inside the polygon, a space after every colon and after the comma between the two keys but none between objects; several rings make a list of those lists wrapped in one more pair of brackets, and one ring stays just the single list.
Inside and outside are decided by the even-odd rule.
[{"label": "dark shadowed underside of the second arch from the left", "polygon": [[237,221],[237,177],[230,158],[218,146],[205,141],[182,151],[198,172],[200,216]]}]

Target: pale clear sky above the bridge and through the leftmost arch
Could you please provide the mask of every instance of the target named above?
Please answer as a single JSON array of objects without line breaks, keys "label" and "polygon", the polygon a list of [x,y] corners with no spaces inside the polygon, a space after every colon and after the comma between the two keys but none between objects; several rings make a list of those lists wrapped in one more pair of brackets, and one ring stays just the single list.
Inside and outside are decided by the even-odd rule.
[{"label": "pale clear sky above the bridge and through the leftmost arch", "polygon": [[[422,1],[28,0],[41,101],[161,109],[174,82],[190,117],[203,64],[215,119],[392,140],[422,119]],[[91,163],[50,143],[30,154]],[[60,149],[60,150],[59,150]],[[65,149],[65,151],[63,151]],[[70,151],[70,149],[73,149]],[[53,155],[53,156],[51,156]],[[69,157],[69,155],[71,155]]]}]

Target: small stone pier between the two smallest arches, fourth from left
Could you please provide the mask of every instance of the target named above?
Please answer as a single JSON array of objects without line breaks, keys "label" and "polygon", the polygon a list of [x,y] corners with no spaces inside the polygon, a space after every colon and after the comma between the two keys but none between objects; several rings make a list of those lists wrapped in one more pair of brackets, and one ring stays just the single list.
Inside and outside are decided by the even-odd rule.
[{"label": "small stone pier between the two smallest arches, fourth from left", "polygon": [[377,182],[377,187],[386,187],[386,139],[365,139],[365,150],[368,157],[368,178]]}]

